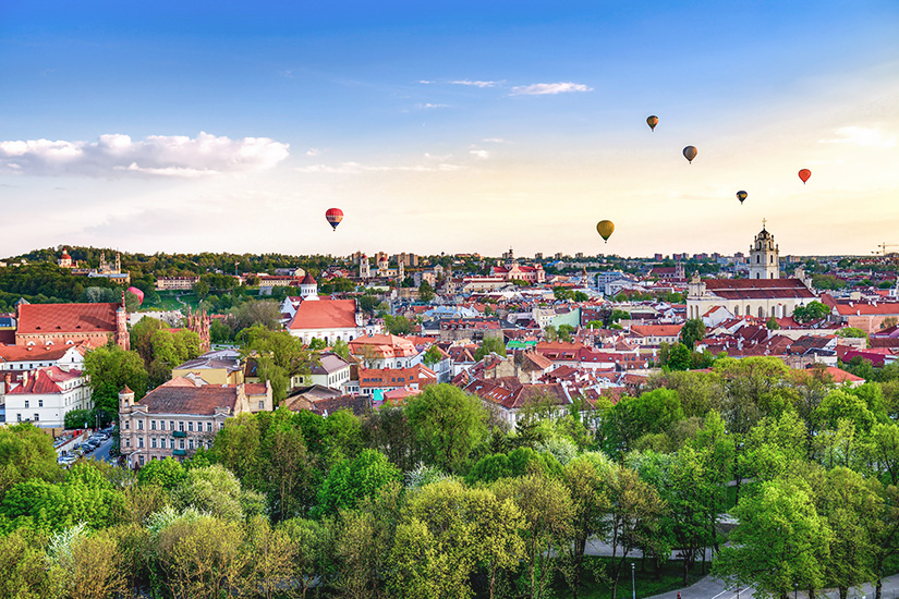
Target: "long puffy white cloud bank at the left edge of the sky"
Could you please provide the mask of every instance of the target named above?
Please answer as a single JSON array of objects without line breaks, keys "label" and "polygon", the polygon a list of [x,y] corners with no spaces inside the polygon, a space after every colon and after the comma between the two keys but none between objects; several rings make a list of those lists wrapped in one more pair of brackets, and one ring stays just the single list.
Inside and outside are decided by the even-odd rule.
[{"label": "long puffy white cloud bank at the left edge of the sky", "polygon": [[289,147],[268,137],[231,139],[203,132],[139,142],[120,134],[96,142],[10,140],[0,142],[0,173],[195,178],[270,169],[288,157]]}]

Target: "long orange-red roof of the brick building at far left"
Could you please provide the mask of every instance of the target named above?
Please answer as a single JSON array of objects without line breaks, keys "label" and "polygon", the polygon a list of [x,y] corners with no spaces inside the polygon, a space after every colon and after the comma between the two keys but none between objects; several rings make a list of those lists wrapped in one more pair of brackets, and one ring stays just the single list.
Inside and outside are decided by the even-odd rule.
[{"label": "long orange-red roof of the brick building at far left", "polygon": [[22,304],[19,334],[116,332],[120,304]]}]

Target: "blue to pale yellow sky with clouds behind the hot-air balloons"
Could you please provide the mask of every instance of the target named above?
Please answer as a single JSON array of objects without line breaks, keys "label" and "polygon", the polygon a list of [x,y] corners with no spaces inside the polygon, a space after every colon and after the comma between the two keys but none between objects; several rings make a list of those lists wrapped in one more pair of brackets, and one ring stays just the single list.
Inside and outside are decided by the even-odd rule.
[{"label": "blue to pale yellow sky with clouds behind the hot-air balloons", "polygon": [[870,255],[897,39],[895,0],[2,0],[0,256],[732,254],[763,218]]}]

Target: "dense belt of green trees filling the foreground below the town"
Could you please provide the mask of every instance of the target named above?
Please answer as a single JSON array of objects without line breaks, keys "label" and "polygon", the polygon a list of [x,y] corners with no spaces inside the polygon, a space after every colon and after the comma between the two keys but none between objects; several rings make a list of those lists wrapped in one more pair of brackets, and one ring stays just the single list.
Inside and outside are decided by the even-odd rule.
[{"label": "dense belt of green trees filling the foreground below the town", "polygon": [[595,409],[546,407],[508,429],[440,384],[362,416],[245,414],[136,475],[63,470],[49,437],[2,429],[0,594],[542,598],[590,579],[621,597],[637,554],[653,578],[673,552],[683,580],[710,567],[763,596],[845,599],[897,571],[894,380],[722,358]]}]

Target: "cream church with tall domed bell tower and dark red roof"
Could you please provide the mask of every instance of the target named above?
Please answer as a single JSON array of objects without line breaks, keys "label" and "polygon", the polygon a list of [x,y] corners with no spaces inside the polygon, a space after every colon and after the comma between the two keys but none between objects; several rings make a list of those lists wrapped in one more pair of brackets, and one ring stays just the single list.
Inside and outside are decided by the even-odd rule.
[{"label": "cream church with tall domed bell tower and dark red roof", "polygon": [[750,246],[749,278],[690,280],[687,293],[687,317],[703,318],[716,308],[725,308],[734,317],[786,318],[797,306],[817,298],[812,278],[798,268],[793,278],[780,278],[780,249],[765,228]]}]

